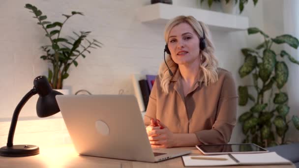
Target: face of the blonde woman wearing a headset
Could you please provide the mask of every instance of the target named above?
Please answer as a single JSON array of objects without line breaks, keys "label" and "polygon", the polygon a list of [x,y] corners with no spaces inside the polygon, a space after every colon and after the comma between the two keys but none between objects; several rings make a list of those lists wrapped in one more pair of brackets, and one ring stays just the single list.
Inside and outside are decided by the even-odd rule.
[{"label": "face of the blonde woman wearing a headset", "polygon": [[168,48],[177,64],[192,64],[199,59],[199,39],[187,23],[180,23],[170,30]]}]

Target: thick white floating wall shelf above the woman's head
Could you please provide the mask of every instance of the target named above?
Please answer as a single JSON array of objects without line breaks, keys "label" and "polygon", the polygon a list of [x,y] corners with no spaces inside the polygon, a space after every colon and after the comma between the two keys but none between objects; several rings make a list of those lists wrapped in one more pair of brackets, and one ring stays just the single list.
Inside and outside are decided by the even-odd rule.
[{"label": "thick white floating wall shelf above the woman's head", "polygon": [[138,9],[137,17],[142,23],[166,24],[179,15],[191,15],[211,29],[238,31],[248,28],[248,17],[214,12],[199,8],[182,7],[165,3],[155,3]]}]

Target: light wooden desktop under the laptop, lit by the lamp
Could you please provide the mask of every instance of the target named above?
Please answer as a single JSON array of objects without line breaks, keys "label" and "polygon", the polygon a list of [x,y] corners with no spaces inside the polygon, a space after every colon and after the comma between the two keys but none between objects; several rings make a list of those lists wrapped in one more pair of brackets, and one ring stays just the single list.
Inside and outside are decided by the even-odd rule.
[{"label": "light wooden desktop under the laptop, lit by the lamp", "polygon": [[[202,155],[195,147],[190,155]],[[232,168],[295,168],[295,165],[232,166]],[[0,168],[184,168],[181,157],[146,163],[78,155],[72,144],[40,147],[40,154],[29,157],[0,157]],[[204,167],[200,167],[204,168]],[[211,168],[211,167],[208,167]],[[221,168],[221,167],[217,167]],[[228,168],[228,167],[222,167]]]}]

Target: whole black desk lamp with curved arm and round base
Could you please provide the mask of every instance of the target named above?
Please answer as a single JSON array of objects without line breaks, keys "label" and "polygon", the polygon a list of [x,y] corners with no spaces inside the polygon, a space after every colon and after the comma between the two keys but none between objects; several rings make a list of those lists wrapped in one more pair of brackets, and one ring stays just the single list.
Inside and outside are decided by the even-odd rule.
[{"label": "whole black desk lamp with curved arm and round base", "polygon": [[55,96],[62,94],[52,90],[48,80],[43,76],[38,76],[33,81],[33,88],[23,97],[16,107],[10,124],[6,146],[0,148],[0,156],[20,157],[32,156],[39,154],[39,147],[35,145],[13,145],[13,136],[21,109],[25,103],[34,95],[38,94],[39,98],[36,104],[36,112],[39,117],[47,117],[60,112]]}]

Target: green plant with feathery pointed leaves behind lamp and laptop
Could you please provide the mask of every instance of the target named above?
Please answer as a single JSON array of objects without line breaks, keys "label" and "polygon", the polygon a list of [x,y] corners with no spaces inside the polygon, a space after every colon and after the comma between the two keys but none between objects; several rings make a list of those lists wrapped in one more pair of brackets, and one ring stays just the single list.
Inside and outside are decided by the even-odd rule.
[{"label": "green plant with feathery pointed leaves behind lamp and laptop", "polygon": [[[47,21],[47,16],[43,15],[39,9],[31,4],[26,4],[25,8],[30,9],[30,12],[34,14],[33,18],[38,20],[37,24],[45,30],[46,37],[51,42],[50,45],[41,47],[45,55],[40,56],[40,58],[52,64],[52,67],[48,69],[48,81],[52,88],[61,89],[63,80],[69,76],[69,67],[71,65],[78,66],[76,59],[79,56],[85,58],[85,54],[90,53],[90,48],[100,48],[102,43],[95,39],[92,41],[88,40],[87,36],[90,34],[90,31],[73,32],[75,37],[60,37],[61,30],[66,21],[74,15],[83,15],[81,12],[72,11],[70,15],[62,14],[65,20],[61,23]],[[87,46],[82,44],[84,40],[88,42]]]}]

